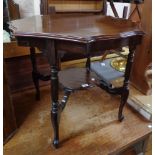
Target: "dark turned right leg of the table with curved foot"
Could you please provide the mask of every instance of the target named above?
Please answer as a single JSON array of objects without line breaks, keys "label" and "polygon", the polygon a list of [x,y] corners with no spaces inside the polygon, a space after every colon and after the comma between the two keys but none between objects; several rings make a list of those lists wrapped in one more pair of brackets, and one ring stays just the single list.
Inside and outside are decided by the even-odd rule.
[{"label": "dark turned right leg of the table with curved foot", "polygon": [[124,119],[124,116],[122,113],[123,113],[124,105],[125,105],[125,103],[128,99],[128,96],[129,96],[129,87],[128,86],[129,86],[129,78],[130,78],[134,53],[135,53],[135,47],[130,46],[125,75],[124,75],[124,84],[123,84],[122,94],[121,94],[121,103],[120,103],[119,112],[118,112],[118,120],[119,121],[122,121]]}]

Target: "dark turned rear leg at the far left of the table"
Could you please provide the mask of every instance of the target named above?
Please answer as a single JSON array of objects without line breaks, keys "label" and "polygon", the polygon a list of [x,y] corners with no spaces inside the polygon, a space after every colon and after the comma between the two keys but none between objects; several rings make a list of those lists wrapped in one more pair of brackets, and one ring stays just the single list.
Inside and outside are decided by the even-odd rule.
[{"label": "dark turned rear leg at the far left of the table", "polygon": [[34,47],[30,47],[30,57],[31,57],[31,63],[32,63],[32,79],[36,89],[36,100],[40,100],[39,78],[38,78]]}]

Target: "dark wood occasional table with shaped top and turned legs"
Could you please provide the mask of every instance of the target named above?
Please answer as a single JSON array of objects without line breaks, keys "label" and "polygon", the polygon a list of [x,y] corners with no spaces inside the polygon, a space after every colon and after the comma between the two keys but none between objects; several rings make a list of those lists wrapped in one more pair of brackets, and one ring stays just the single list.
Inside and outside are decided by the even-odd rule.
[{"label": "dark wood occasional table with shaped top and turned legs", "polygon": [[[51,80],[51,120],[54,129],[53,144],[56,148],[59,144],[60,113],[72,91],[70,88],[65,89],[64,98],[59,101],[59,51],[72,52],[73,54],[83,53],[88,58],[86,66],[89,70],[92,55],[123,46],[129,47],[123,86],[113,88],[103,83],[99,85],[109,93],[121,95],[118,119],[123,120],[122,111],[129,95],[128,84],[134,52],[144,35],[136,23],[103,15],[46,15],[12,21],[10,29],[13,31],[18,45],[30,47],[33,65],[32,75],[38,99],[40,97],[39,79]],[[46,55],[51,75],[43,76],[37,71],[34,47],[39,48]],[[65,74],[65,72],[62,73]],[[60,75],[63,80],[63,74]]]}]

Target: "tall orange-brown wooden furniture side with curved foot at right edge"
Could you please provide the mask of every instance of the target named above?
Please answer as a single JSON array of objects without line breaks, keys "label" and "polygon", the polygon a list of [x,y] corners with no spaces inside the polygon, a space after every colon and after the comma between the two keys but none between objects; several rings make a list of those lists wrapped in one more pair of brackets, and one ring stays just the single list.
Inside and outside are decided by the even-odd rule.
[{"label": "tall orange-brown wooden furniture side with curved foot at right edge", "polygon": [[[141,92],[149,95],[152,92],[152,88],[145,75],[148,67],[152,64],[152,0],[144,0],[140,10],[140,24],[145,32],[145,36],[142,44],[136,49],[131,82]],[[139,19],[136,16],[133,16],[132,20],[137,21]]]}]

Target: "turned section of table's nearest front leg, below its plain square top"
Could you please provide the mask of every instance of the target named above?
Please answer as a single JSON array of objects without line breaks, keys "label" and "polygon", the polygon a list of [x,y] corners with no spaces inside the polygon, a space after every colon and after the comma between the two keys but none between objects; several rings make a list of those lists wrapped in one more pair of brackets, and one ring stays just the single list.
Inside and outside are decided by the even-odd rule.
[{"label": "turned section of table's nearest front leg, below its plain square top", "polygon": [[51,67],[51,90],[52,90],[51,120],[54,129],[53,145],[55,148],[57,148],[59,144],[59,102],[58,102],[58,70],[56,66]]}]

